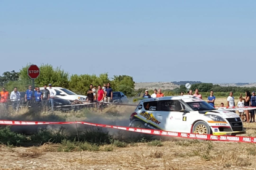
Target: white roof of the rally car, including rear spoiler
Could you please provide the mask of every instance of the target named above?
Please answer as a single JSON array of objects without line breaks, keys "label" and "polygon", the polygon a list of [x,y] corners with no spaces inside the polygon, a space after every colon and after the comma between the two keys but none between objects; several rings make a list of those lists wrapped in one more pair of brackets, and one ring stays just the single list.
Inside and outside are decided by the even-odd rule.
[{"label": "white roof of the rally car, including rear spoiler", "polygon": [[194,101],[203,101],[193,95],[174,95],[174,96],[165,96],[159,98],[146,98],[142,99],[142,102],[147,101],[158,101],[158,100],[184,100],[184,102],[194,102]]}]

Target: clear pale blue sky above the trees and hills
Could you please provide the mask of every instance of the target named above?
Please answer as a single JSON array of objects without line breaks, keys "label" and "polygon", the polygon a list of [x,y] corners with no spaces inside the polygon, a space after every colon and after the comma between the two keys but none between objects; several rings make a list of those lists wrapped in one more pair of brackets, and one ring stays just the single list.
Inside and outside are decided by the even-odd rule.
[{"label": "clear pale blue sky above the trees and hills", "polygon": [[0,74],[255,82],[256,1],[0,1]]}]

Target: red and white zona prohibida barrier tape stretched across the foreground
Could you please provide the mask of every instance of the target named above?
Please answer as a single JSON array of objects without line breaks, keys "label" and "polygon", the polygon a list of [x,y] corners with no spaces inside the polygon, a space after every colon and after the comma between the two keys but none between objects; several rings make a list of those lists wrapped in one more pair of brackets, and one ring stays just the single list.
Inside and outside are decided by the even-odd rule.
[{"label": "red and white zona prohibida barrier tape stretched across the foreground", "polygon": [[143,134],[151,134],[158,136],[169,136],[169,137],[182,137],[187,139],[202,139],[202,140],[214,140],[214,141],[225,141],[225,142],[247,142],[256,143],[256,137],[245,137],[245,136],[214,136],[210,134],[192,134],[182,132],[169,132],[153,129],[141,129],[135,127],[126,126],[114,126],[107,124],[88,123],[85,121],[74,121],[74,122],[47,122],[47,121],[8,121],[0,120],[0,124],[4,125],[42,125],[42,124],[87,124],[89,126],[106,127],[113,129],[120,129],[124,131],[139,132]]}]

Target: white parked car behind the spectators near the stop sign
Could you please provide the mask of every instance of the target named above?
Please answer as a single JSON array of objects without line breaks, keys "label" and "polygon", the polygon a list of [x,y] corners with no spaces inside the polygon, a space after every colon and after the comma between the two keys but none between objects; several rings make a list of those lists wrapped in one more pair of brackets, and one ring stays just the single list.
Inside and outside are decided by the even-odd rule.
[{"label": "white parked car behind the spectators near the stop sign", "polygon": [[[56,91],[56,96],[65,99],[65,100],[86,100],[86,95],[79,95],[75,94],[72,91],[69,91],[68,89],[64,89],[62,87],[52,87]],[[45,87],[40,87],[40,91],[45,89]],[[49,87],[47,87],[49,89]]]}]

